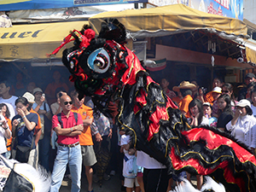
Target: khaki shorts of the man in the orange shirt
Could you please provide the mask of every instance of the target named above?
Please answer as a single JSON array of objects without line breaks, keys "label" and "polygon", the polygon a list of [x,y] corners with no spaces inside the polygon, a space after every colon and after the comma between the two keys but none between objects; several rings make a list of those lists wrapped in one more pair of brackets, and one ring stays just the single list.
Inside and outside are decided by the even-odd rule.
[{"label": "khaki shorts of the man in the orange shirt", "polygon": [[96,156],[92,145],[81,145],[84,166],[93,166],[96,164]]}]

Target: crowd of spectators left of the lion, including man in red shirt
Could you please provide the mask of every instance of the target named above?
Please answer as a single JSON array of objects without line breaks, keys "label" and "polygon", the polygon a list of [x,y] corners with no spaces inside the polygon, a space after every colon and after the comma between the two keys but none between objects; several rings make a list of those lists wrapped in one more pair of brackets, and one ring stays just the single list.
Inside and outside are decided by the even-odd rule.
[{"label": "crowd of spectators left of the lion, including man in red shirt", "polygon": [[117,154],[110,153],[112,119],[93,113],[90,98],[79,100],[58,71],[45,90],[33,81],[25,84],[22,77],[17,73],[13,84],[0,81],[0,153],[51,172],[50,191],[59,191],[63,177],[72,180],[72,191],[79,191],[82,166],[88,191],[93,191],[93,177],[102,185],[114,175],[116,165],[108,166]]}]

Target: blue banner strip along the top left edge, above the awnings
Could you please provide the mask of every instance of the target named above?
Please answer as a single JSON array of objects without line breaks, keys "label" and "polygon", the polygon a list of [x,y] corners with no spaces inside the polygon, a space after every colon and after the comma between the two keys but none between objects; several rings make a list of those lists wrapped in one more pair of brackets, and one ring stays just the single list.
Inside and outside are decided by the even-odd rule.
[{"label": "blue banner strip along the top left edge, above the awnings", "polygon": [[147,3],[148,0],[0,0],[0,11],[57,9],[122,3]]}]

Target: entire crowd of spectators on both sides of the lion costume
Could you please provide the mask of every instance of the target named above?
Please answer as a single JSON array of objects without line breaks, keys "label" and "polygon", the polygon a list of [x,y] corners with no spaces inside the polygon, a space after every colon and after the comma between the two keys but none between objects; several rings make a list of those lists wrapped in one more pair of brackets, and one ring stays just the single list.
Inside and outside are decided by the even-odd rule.
[{"label": "entire crowd of spectators on both sides of the lion costume", "polygon": [[[59,191],[65,176],[72,179],[72,191],[79,191],[82,166],[88,180],[88,191],[93,191],[93,181],[102,185],[103,179],[108,180],[110,175],[119,172],[119,166],[112,160],[119,159],[120,153],[124,155],[119,164],[124,165],[121,178],[122,189],[126,187],[126,191],[139,192],[152,188],[153,183],[143,180],[143,174],[149,177],[158,174],[158,170],[166,170],[166,166],[147,154],[131,148],[130,137],[115,129],[112,119],[96,113],[90,97],[79,100],[76,90],[69,91],[67,84],[61,82],[58,71],[45,90],[37,87],[35,82],[21,84],[20,74],[16,79],[15,84],[9,84],[6,80],[0,82],[0,153],[8,159],[26,162],[35,168],[44,166],[52,172],[50,191]],[[183,81],[169,90],[168,79],[161,79],[160,86],[166,96],[177,104],[190,126],[215,127],[236,137],[254,154],[255,82],[255,75],[247,73],[247,86],[236,93],[238,97],[234,96],[232,84],[218,78],[212,80],[212,90],[209,92],[201,88],[196,80],[191,80],[191,83]],[[127,172],[131,162],[136,159],[137,167]],[[153,172],[152,167],[158,168]],[[189,173],[180,174],[182,177],[186,175],[190,179]],[[181,182],[175,176],[172,178]],[[168,190],[171,189],[172,178]],[[196,178],[197,189],[201,189],[203,177],[198,175]],[[167,188],[166,183],[162,189]]]}]

